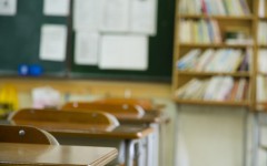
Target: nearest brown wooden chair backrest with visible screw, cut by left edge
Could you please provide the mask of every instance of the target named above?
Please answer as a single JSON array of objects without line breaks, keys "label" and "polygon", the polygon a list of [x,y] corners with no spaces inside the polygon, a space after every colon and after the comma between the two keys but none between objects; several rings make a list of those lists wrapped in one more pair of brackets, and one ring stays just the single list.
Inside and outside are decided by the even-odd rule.
[{"label": "nearest brown wooden chair backrest with visible screw, cut by left edge", "polygon": [[51,134],[36,127],[0,125],[0,133],[1,143],[59,145]]}]

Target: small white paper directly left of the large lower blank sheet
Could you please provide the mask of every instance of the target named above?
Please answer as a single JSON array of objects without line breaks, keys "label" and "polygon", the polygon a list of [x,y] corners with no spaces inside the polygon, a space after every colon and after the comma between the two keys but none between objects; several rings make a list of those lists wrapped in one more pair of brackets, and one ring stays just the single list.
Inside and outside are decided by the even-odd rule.
[{"label": "small white paper directly left of the large lower blank sheet", "polygon": [[99,33],[77,32],[75,44],[76,64],[98,64]]}]

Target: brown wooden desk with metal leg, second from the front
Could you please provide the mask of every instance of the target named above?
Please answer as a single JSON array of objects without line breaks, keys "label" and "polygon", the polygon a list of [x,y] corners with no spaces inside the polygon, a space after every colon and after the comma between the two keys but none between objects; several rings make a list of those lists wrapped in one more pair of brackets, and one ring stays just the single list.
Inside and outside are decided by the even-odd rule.
[{"label": "brown wooden desk with metal leg, second from the front", "polygon": [[[135,145],[140,149],[139,141],[146,138],[149,134],[154,132],[151,127],[140,126],[140,125],[120,125],[111,131],[106,131],[96,127],[85,127],[85,125],[76,125],[75,128],[58,125],[55,123],[48,124],[43,122],[17,122],[18,125],[30,125],[51,133],[56,138],[60,136],[75,136],[75,137],[86,137],[86,138],[105,138],[105,139],[120,139],[125,142],[126,145],[126,166],[132,166],[132,158],[135,155]],[[60,143],[60,142],[59,142]],[[138,162],[137,155],[137,162]]]}]

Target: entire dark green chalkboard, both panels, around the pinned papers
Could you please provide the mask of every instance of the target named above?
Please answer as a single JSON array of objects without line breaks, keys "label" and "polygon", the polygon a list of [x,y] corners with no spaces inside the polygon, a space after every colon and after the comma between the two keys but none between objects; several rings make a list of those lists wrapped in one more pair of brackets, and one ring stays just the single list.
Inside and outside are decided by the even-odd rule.
[{"label": "entire dark green chalkboard, both panels, around the pinned papers", "polygon": [[[72,3],[72,2],[71,2]],[[158,0],[157,35],[149,39],[149,62],[146,71],[100,70],[98,66],[77,65],[73,62],[75,31],[67,46],[66,62],[39,59],[40,31],[44,23],[71,25],[71,15],[47,17],[43,0],[18,0],[14,17],[0,15],[0,73],[17,73],[19,64],[39,64],[47,75],[69,77],[171,80],[174,50],[175,0]]]}]

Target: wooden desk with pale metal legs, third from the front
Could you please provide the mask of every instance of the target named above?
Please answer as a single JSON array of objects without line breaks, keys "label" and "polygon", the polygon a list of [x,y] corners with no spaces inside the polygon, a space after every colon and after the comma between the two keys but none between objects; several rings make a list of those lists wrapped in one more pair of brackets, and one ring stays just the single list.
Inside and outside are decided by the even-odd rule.
[{"label": "wooden desk with pale metal legs, third from the front", "polygon": [[[81,105],[80,105],[81,106]],[[86,108],[83,105],[80,108],[62,108],[62,111],[73,111],[73,112],[87,112],[87,110],[90,112],[92,108]],[[146,166],[160,166],[160,158],[161,155],[159,155],[160,148],[162,148],[161,139],[161,127],[162,125],[168,121],[166,116],[164,116],[164,111],[160,110],[149,110],[146,111],[142,116],[137,117],[132,114],[126,114],[127,111],[122,111],[121,114],[116,113],[115,116],[122,125],[145,125],[148,127],[154,128],[154,133],[150,134],[146,139],[142,139],[144,142],[140,143],[140,147],[144,147],[140,152],[146,152],[146,155],[140,156],[141,162],[146,163]],[[144,153],[145,154],[145,153]],[[157,158],[157,159],[155,159]]]}]

